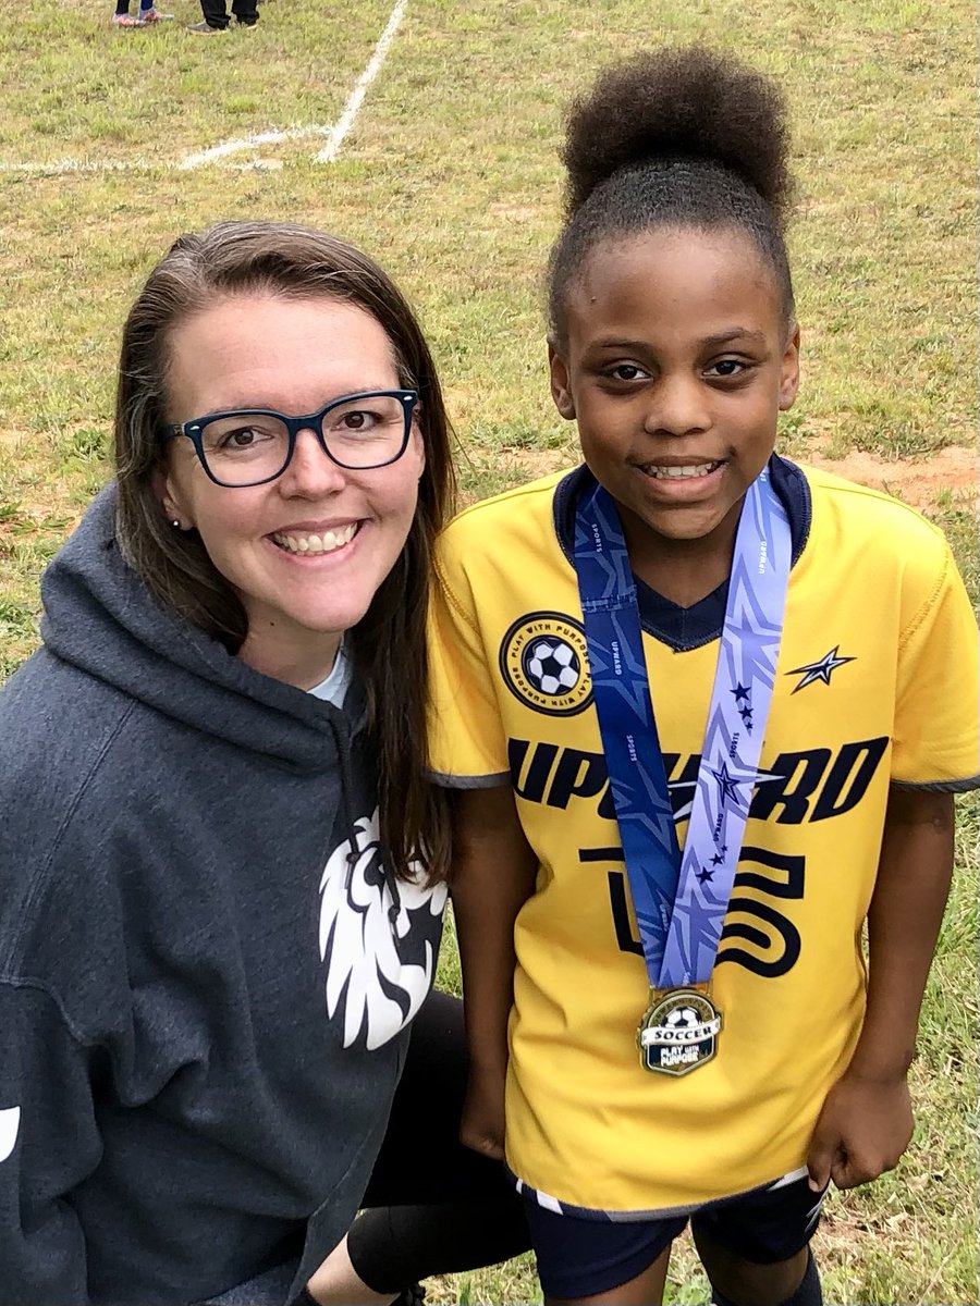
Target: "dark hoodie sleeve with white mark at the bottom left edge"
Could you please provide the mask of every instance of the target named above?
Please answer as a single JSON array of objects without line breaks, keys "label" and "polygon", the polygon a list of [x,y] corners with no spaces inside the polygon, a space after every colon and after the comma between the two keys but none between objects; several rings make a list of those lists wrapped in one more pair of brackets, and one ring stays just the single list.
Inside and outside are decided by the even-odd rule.
[{"label": "dark hoodie sleeve with white mark at the bottom left edge", "polygon": [[89,1302],[71,1192],[98,1165],[89,1053],[41,989],[0,982],[0,1284],[4,1306]]}]

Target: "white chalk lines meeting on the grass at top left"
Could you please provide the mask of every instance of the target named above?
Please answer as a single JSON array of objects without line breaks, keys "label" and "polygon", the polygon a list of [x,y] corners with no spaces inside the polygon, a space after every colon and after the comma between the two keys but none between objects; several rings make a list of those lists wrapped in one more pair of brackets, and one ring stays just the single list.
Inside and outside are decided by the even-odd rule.
[{"label": "white chalk lines meeting on the grass at top left", "polygon": [[[408,0],[396,0],[395,8],[388,14],[388,22],[385,24],[384,31],[382,31],[382,35],[378,38],[374,52],[371,54],[365,71],[354,84],[354,89],[351,90],[348,102],[344,106],[344,111],[336,123],[314,127],[286,127],[281,131],[257,132],[253,136],[243,136],[239,140],[222,141],[220,145],[212,145],[206,150],[186,155],[186,158],[179,162],[145,158],[128,161],[64,158],[52,159],[48,163],[0,163],[0,174],[13,174],[20,176],[69,176],[72,174],[86,172],[183,172],[191,168],[220,163],[222,159],[230,158],[233,154],[240,154],[243,150],[256,149],[263,145],[280,145],[284,141],[303,141],[310,140],[311,137],[327,137],[327,144],[314,155],[314,162],[332,163],[340,154],[344,138],[354,125],[368,86],[384,64],[406,7]],[[253,165],[237,166],[242,168],[263,168],[274,165],[263,165],[257,161]]]}]

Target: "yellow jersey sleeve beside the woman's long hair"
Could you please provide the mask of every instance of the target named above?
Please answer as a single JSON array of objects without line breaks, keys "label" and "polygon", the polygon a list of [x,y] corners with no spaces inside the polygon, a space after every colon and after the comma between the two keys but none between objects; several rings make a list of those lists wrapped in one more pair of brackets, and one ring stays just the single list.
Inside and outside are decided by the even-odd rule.
[{"label": "yellow jersey sleeve beside the woman's long hair", "polygon": [[439,543],[429,607],[429,761],[439,784],[480,789],[510,782],[507,741],[457,538]]}]

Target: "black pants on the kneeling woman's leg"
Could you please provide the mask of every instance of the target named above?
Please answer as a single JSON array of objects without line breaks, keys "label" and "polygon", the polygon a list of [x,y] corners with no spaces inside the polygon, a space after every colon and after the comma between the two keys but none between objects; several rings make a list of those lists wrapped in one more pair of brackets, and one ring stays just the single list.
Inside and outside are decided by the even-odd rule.
[{"label": "black pants on the kneeling woman's leg", "polygon": [[368,1288],[508,1260],[531,1246],[524,1204],[498,1161],[459,1141],[466,1088],[463,1003],[431,994],[412,1025],[388,1131],[348,1239]]}]

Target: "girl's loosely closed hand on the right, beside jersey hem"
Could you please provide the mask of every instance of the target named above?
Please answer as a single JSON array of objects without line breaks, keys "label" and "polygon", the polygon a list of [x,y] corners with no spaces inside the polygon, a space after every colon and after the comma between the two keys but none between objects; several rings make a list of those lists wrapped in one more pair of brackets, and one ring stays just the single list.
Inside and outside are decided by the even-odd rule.
[{"label": "girl's loosely closed hand on the right, beside jersey hem", "polygon": [[912,1105],[904,1074],[862,1079],[845,1074],[827,1093],[813,1131],[806,1166],[814,1192],[832,1179],[839,1188],[877,1179],[898,1165],[912,1138]]}]

